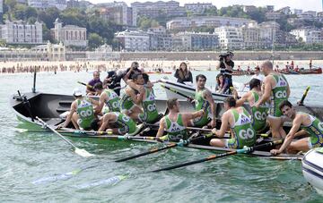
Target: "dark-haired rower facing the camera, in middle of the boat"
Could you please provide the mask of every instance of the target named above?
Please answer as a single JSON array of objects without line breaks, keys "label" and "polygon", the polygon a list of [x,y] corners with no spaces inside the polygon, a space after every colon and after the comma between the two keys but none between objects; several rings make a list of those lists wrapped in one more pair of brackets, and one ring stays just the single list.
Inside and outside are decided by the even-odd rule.
[{"label": "dark-haired rower facing the camera, in middle of the boat", "polygon": [[199,74],[196,76],[196,95],[194,100],[190,100],[191,102],[195,101],[196,111],[204,110],[205,114],[196,118],[191,124],[196,127],[203,127],[209,124],[212,128],[214,128],[216,125],[215,104],[211,91],[205,88],[205,81],[205,75]]}]

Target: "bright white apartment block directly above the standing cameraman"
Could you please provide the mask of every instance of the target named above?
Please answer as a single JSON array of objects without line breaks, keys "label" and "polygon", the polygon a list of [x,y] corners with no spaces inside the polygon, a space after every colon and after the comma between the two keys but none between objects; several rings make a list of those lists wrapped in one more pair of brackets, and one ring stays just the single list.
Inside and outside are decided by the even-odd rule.
[{"label": "bright white apartment block directly above the standing cameraman", "polygon": [[214,33],[219,36],[219,43],[222,49],[235,50],[244,47],[243,34],[240,28],[222,26],[215,28]]}]

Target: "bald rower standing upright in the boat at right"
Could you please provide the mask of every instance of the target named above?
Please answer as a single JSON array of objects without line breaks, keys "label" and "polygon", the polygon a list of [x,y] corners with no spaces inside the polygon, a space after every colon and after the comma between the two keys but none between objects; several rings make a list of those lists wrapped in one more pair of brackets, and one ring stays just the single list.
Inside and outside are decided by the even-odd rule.
[{"label": "bald rower standing upright in the boat at right", "polygon": [[273,138],[281,139],[286,136],[286,132],[283,129],[284,119],[281,118],[283,113],[279,109],[279,104],[288,99],[291,90],[284,75],[273,70],[273,63],[266,61],[260,65],[260,68],[266,76],[263,85],[264,94],[255,104],[255,107],[258,108],[270,99],[267,120],[270,124]]}]

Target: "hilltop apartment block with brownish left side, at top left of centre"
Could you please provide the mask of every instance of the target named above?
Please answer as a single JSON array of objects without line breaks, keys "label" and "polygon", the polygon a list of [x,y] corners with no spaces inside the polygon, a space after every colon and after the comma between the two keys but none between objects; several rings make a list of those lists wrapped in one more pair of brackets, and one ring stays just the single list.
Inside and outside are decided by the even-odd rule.
[{"label": "hilltop apartment block with brownish left side, at top left of centre", "polygon": [[128,7],[125,2],[98,4],[101,7],[100,17],[119,25],[136,26],[136,10]]}]

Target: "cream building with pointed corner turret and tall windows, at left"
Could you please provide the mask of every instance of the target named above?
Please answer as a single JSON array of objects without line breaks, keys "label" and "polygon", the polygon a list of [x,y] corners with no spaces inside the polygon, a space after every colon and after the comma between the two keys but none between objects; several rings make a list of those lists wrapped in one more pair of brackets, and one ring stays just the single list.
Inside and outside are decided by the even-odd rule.
[{"label": "cream building with pointed corner turret and tall windows, at left", "polygon": [[65,25],[57,19],[54,22],[55,27],[51,29],[52,34],[58,42],[63,42],[66,47],[86,47],[86,28],[81,28],[76,25]]}]

